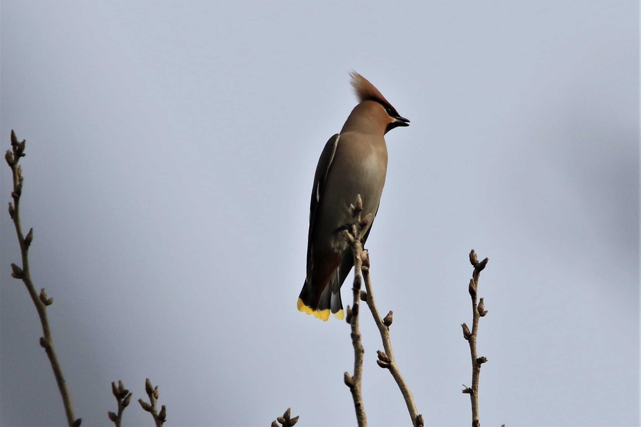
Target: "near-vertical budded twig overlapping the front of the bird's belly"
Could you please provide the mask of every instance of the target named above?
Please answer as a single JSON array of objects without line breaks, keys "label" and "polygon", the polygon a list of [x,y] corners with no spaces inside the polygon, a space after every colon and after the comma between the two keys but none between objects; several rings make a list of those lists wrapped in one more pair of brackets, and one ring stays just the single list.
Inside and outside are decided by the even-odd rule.
[{"label": "near-vertical budded twig overlapping the front of the bird's belly", "polygon": [[363,378],[363,344],[361,342],[360,328],[358,326],[358,316],[360,309],[360,293],[361,293],[361,271],[362,260],[360,252],[363,249],[361,238],[367,230],[367,224],[370,221],[370,215],[361,220],[361,212],[363,211],[363,202],[360,195],[356,197],[356,204],[350,206],[352,218],[354,223],[349,224],[349,230],[343,230],[343,236],[347,243],[351,246],[354,254],[354,286],[352,287],[354,295],[353,307],[347,306],[347,316],[345,320],[351,326],[352,345],[354,346],[354,376],[349,376],[347,372],[344,373],[345,385],[349,387],[354,400],[354,409],[356,410],[356,422],[359,427],[367,426],[367,416],[365,416],[365,408],[363,407],[362,395],[362,378]]}]

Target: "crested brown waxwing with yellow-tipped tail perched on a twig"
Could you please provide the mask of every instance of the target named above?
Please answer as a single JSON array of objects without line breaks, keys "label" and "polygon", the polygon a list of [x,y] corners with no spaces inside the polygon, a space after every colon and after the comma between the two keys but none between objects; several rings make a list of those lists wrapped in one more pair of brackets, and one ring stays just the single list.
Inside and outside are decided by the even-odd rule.
[{"label": "crested brown waxwing with yellow-tipped tail perched on a twig", "polygon": [[410,125],[365,77],[355,71],[349,74],[358,104],[320,153],[310,201],[307,275],[296,302],[299,311],[323,321],[329,319],[330,311],[338,319],[345,316],[340,287],[354,259],[338,230],[353,221],[348,207],[360,195],[363,214],[372,215],[363,236],[365,243],[385,185],[385,134]]}]

